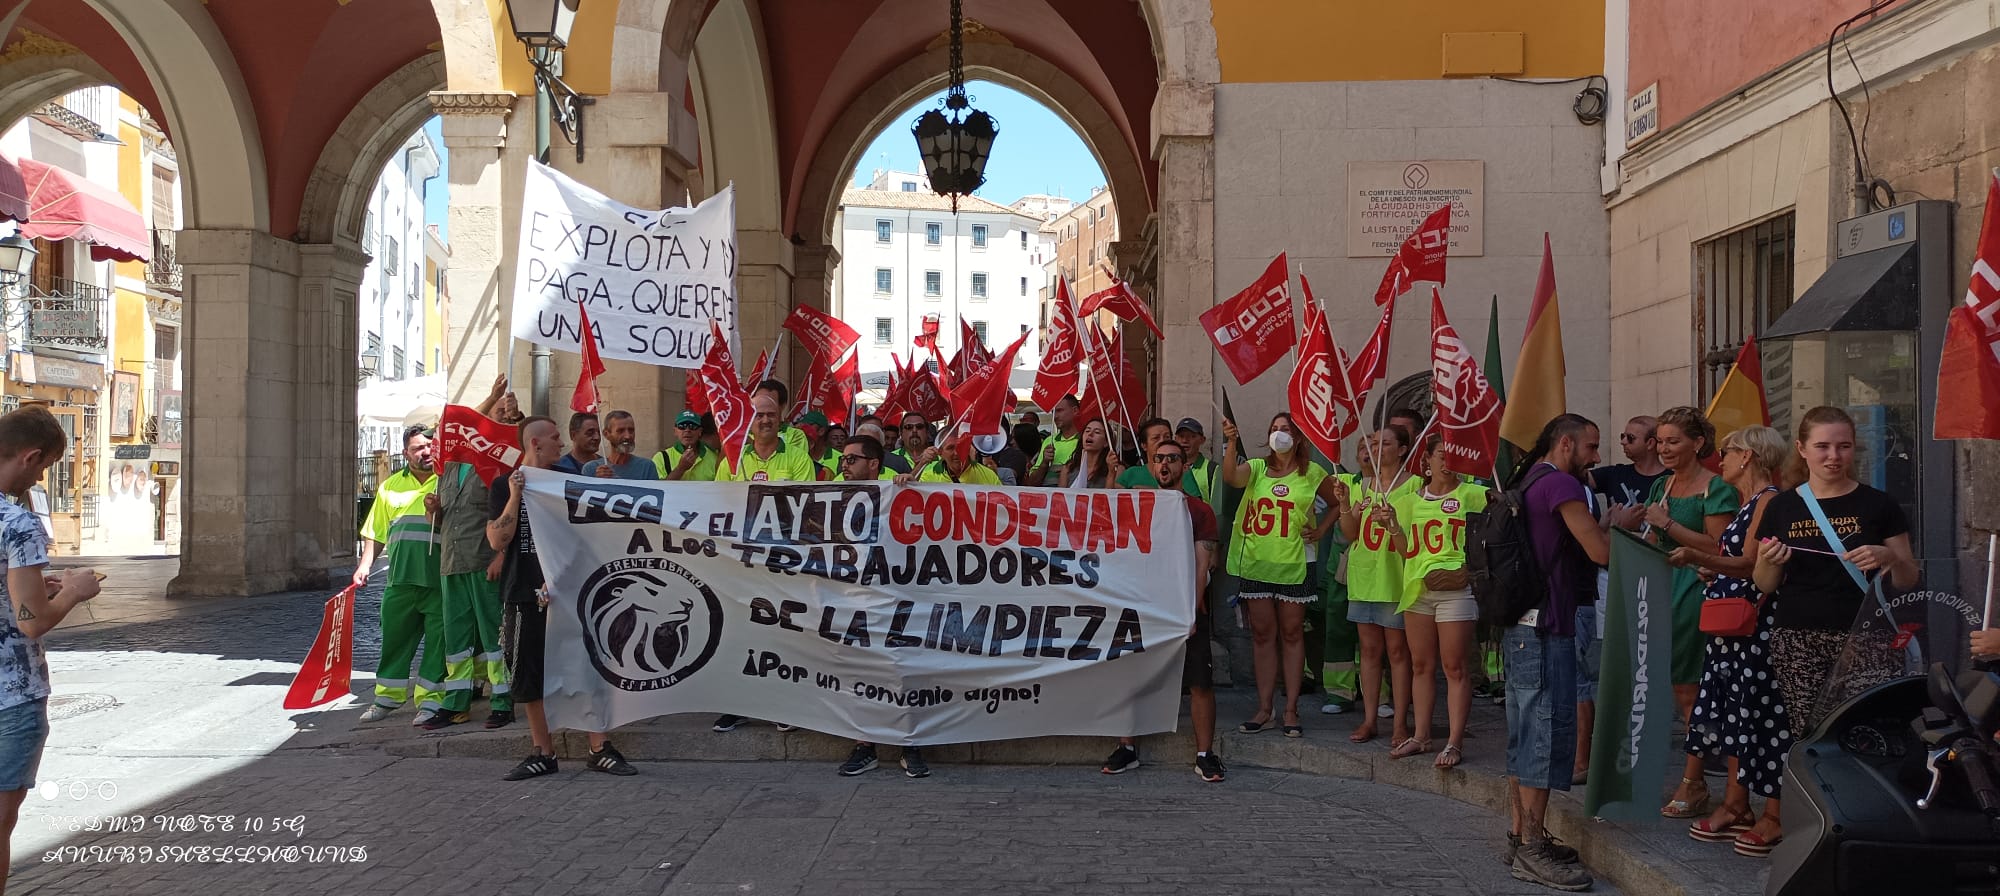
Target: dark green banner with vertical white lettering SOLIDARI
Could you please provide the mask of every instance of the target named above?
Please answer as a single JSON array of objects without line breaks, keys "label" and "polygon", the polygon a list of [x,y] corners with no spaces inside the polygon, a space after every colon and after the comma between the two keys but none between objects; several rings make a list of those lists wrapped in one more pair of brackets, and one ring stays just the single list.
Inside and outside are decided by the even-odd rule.
[{"label": "dark green banner with vertical white lettering SOLIDARI", "polygon": [[1614,822],[1658,818],[1674,734],[1674,570],[1666,552],[1612,530],[1612,584],[1598,608],[1604,636],[1598,722],[1590,736],[1584,812]]}]

